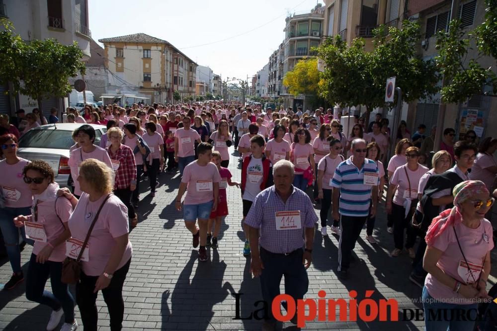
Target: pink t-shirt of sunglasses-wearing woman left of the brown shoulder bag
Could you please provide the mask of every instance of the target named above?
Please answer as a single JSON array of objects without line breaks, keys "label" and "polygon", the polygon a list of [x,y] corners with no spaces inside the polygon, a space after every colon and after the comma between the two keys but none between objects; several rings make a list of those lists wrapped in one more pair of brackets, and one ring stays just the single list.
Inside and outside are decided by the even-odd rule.
[{"label": "pink t-shirt of sunglasses-wearing woman left of the brown shoulder bag", "polygon": [[[50,186],[47,190],[49,189]],[[38,255],[49,242],[54,241],[61,235],[62,232],[64,232],[65,228],[61,221],[67,223],[72,212],[73,206],[71,205],[71,202],[64,197],[60,197],[56,201],[43,201],[38,203],[37,223],[43,225],[47,235],[47,243],[35,241],[33,246],[34,255]],[[34,213],[31,214],[30,218],[30,222],[35,221]],[[63,262],[64,259],[66,259],[66,244],[63,242],[54,248],[48,260],[53,262]]]}]

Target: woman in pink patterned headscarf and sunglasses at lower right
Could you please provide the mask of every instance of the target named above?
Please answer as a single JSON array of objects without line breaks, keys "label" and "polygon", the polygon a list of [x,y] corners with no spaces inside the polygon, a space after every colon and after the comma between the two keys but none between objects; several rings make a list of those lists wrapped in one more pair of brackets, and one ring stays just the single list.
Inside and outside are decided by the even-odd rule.
[{"label": "woman in pink patterned headscarf and sunglasses at lower right", "polygon": [[[454,207],[433,219],[425,237],[423,268],[428,275],[422,299],[426,331],[473,330],[475,299],[491,299],[486,285],[494,241],[485,214],[494,199],[480,181],[462,182],[452,193]],[[433,313],[444,318],[430,319]],[[467,318],[454,318],[456,314]]]}]

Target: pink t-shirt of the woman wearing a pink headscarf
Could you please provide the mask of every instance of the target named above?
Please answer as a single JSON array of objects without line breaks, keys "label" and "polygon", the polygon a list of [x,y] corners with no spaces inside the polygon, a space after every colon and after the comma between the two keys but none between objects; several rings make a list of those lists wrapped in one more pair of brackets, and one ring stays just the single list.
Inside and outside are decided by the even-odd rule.
[{"label": "pink t-shirt of the woman wearing a pink headscarf", "polygon": [[[463,255],[457,244],[454,228],[464,256],[473,267],[472,272],[466,267]],[[483,260],[486,254],[490,254],[490,251],[494,248],[492,224],[487,219],[483,219],[480,222],[480,226],[476,229],[468,228],[462,223],[458,223],[454,228],[449,226],[433,243],[432,247],[443,252],[437,265],[445,274],[465,284],[475,282],[475,280],[478,281]],[[473,277],[475,280],[473,280]],[[451,287],[439,282],[430,273],[428,273],[424,280],[424,286],[426,286],[428,293],[435,299],[444,299],[447,302],[458,305],[473,303],[470,299],[466,299],[461,294],[455,293]]]}]

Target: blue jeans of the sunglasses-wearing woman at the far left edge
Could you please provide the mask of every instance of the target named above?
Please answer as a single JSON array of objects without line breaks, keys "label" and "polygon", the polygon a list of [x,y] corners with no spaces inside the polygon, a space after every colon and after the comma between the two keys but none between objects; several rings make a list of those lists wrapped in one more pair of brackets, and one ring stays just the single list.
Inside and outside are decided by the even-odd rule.
[{"label": "blue jeans of the sunglasses-wearing woman at the far left edge", "polygon": [[19,215],[31,215],[30,207],[5,207],[0,208],[0,229],[5,242],[5,250],[7,251],[8,261],[12,267],[12,271],[19,273],[21,269],[21,251],[19,249],[19,230],[21,231],[22,238],[29,245],[33,245],[31,239],[26,239],[24,227],[16,228],[14,225],[14,218]]}]

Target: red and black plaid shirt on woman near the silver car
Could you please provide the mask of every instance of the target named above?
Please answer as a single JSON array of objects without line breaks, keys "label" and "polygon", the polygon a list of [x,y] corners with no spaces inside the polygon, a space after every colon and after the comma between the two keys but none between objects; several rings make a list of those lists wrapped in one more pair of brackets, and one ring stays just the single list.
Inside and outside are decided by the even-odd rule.
[{"label": "red and black plaid shirt on woman near the silver car", "polygon": [[114,189],[126,189],[131,185],[131,181],[136,181],[136,161],[135,155],[130,147],[121,144],[121,147],[112,153],[109,146],[105,148],[112,161],[119,161],[119,168],[114,170],[116,180]]}]

